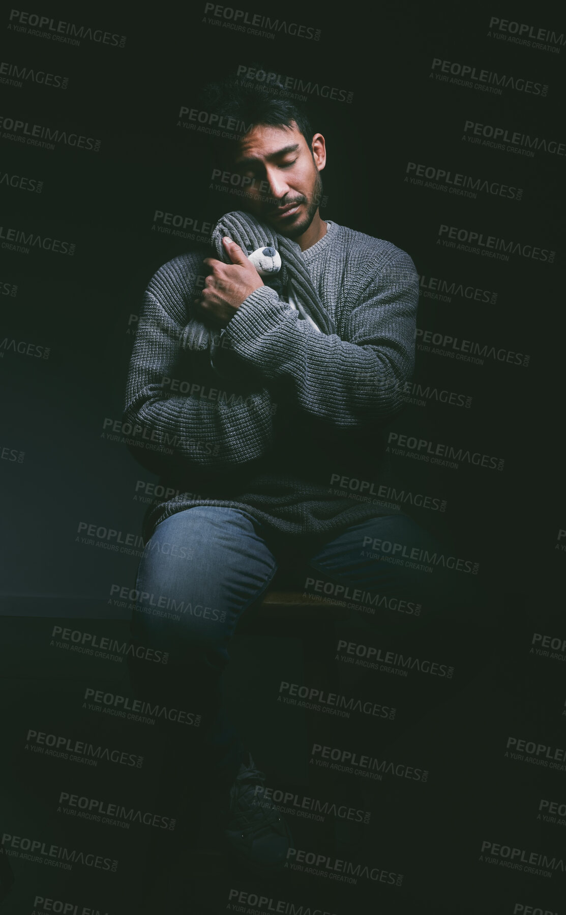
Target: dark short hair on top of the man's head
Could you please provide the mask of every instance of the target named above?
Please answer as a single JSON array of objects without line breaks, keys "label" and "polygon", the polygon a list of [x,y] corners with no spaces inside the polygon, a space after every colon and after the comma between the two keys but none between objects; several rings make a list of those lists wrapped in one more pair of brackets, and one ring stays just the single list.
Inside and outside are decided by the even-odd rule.
[{"label": "dark short hair on top of the man's head", "polygon": [[[262,67],[261,64],[253,66],[257,72],[269,72],[269,68]],[[311,149],[315,131],[304,105],[294,102],[277,78],[272,79],[266,89],[267,92],[262,83],[254,83],[232,73],[219,81],[208,83],[201,93],[202,103],[209,112],[233,118],[239,125],[237,132],[242,137],[258,124],[271,127],[292,127],[296,124]],[[228,145],[230,153],[237,143],[236,140]]]}]

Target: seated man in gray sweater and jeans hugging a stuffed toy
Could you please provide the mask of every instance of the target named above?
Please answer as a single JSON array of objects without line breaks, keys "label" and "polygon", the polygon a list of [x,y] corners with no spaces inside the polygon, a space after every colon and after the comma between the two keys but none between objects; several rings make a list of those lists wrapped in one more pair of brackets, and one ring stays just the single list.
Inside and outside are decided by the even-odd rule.
[{"label": "seated man in gray sweater and jeans hugging a stuffed toy", "polygon": [[[345,476],[379,480],[379,428],[400,409],[413,369],[419,279],[411,257],[321,219],[325,138],[293,103],[236,84],[223,97],[215,110],[251,125],[230,147],[231,171],[247,178],[239,206],[292,242],[286,250],[306,269],[336,332],[305,313],[293,283],[281,295],[265,285],[229,237],[222,240],[228,263],[195,252],[156,272],[124,418],[163,443],[140,459],[176,495],[148,512],[136,587],[181,611],[151,616],[141,603],[133,633],[169,653],[152,684],[147,671],[145,679],[136,673],[138,688],[202,716],[199,728],[169,729],[167,752],[184,767],[187,797],[213,772],[225,788],[230,848],[269,869],[284,862],[290,834],[273,807],[253,804],[262,773],[219,702],[242,614],[282,562],[299,558],[316,579],[393,595],[405,607],[445,604],[449,589],[440,571],[423,575],[390,561],[391,544],[433,547],[416,522],[332,485]],[[187,345],[195,316],[213,328],[213,345]]]}]

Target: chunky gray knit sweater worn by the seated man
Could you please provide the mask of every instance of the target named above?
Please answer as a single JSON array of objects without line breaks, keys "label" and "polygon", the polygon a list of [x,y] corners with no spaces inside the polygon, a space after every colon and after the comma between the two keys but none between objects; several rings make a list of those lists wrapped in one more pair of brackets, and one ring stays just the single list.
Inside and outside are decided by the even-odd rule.
[{"label": "chunky gray knit sweater worn by the seated man", "polygon": [[136,427],[136,458],[176,494],[149,506],[145,537],[193,505],[239,508],[294,536],[396,513],[374,496],[348,498],[336,475],[378,489],[379,426],[400,409],[413,369],[418,274],[395,245],[329,220],[320,241],[296,247],[336,335],[263,286],[211,361],[183,345],[209,251],[174,258],[147,286],[123,420]]}]

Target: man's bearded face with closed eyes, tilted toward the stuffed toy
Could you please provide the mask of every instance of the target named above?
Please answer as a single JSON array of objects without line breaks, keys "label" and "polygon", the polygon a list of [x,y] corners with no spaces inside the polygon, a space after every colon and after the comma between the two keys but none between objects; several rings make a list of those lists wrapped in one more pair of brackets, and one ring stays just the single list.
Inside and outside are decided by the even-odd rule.
[{"label": "man's bearded face with closed eyes, tilted toward the stuffed toy", "polygon": [[287,238],[297,238],[310,226],[322,196],[319,172],[326,164],[325,138],[313,137],[313,147],[293,127],[258,124],[241,141],[235,167],[251,178],[245,207]]}]

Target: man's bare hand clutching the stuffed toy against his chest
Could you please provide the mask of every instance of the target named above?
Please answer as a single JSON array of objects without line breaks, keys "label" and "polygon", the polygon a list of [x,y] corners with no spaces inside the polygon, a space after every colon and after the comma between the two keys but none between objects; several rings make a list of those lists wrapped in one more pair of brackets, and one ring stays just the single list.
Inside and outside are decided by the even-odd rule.
[{"label": "man's bare hand clutching the stuffed toy against his chest", "polygon": [[223,264],[213,257],[205,259],[210,274],[205,280],[201,297],[195,301],[224,326],[244,299],[263,285],[263,281],[240,245],[229,238],[223,238],[222,242],[232,263]]}]

